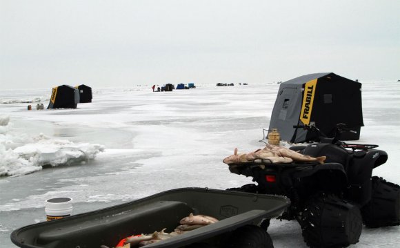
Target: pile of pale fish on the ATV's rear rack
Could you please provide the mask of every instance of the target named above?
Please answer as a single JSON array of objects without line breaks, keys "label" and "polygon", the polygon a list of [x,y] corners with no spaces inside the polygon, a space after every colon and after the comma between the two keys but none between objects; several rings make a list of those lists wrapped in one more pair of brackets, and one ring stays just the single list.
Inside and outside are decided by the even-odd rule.
[{"label": "pile of pale fish on the ATV's rear rack", "polygon": [[241,164],[247,162],[269,162],[269,163],[290,163],[290,162],[319,162],[323,164],[326,156],[312,158],[309,155],[303,155],[296,151],[292,151],[283,146],[275,146],[267,144],[263,149],[257,149],[250,153],[237,153],[223,159],[225,164]]}]

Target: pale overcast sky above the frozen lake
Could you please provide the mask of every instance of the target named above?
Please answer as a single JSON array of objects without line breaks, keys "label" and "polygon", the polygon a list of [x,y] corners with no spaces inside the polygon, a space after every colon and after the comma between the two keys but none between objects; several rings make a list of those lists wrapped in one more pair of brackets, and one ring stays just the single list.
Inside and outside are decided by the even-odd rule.
[{"label": "pale overcast sky above the frozen lake", "polygon": [[0,0],[0,87],[400,79],[400,1]]}]

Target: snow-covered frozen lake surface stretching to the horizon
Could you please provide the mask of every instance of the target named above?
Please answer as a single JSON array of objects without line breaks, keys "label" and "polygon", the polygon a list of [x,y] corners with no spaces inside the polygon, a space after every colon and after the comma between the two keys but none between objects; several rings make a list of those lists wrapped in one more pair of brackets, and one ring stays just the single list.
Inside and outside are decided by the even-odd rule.
[{"label": "snow-covered frozen lake surface stretching to the horizon", "polygon": [[[400,84],[361,83],[357,142],[379,144],[389,158],[373,175],[400,184]],[[48,198],[72,198],[77,214],[179,187],[250,183],[222,160],[263,146],[279,84],[196,85],[94,88],[90,104],[40,111],[51,89],[0,90],[0,247],[15,247],[12,230],[46,220]],[[399,231],[364,228],[351,247],[400,247]],[[272,220],[268,233],[275,247],[306,247],[297,222]]]}]

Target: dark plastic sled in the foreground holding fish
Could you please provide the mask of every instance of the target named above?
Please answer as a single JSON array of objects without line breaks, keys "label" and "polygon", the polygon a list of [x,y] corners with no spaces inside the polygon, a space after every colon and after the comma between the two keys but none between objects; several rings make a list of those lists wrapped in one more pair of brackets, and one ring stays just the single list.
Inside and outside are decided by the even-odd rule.
[{"label": "dark plastic sled in the foreground holding fish", "polygon": [[[207,188],[173,189],[114,207],[21,227],[11,233],[11,240],[23,248],[115,247],[119,240],[133,234],[164,228],[172,232],[181,218],[193,213],[213,216],[219,222],[146,247],[270,248],[273,247],[270,236],[257,225],[265,218],[279,216],[289,204],[288,198],[277,195]],[[238,232],[239,240],[235,238]]]}]

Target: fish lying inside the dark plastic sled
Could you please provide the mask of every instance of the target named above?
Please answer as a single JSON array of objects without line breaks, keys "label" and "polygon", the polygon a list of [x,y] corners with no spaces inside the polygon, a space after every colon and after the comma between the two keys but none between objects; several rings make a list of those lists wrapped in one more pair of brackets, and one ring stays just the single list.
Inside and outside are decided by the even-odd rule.
[{"label": "fish lying inside the dark plastic sled", "polygon": [[[166,228],[161,231],[154,231],[152,234],[140,234],[135,236],[130,236],[124,240],[121,240],[119,245],[116,248],[130,248],[130,247],[143,247],[145,245],[150,245],[155,242],[159,242],[161,240],[166,240],[168,238],[177,236],[182,233],[186,233],[188,231],[192,231],[194,229],[198,229],[200,227],[204,227],[206,225],[210,225],[212,223],[217,222],[218,220],[211,216],[203,216],[197,215],[194,216],[193,213],[190,213],[189,216],[181,219],[179,221],[179,226],[174,229],[171,233],[166,233]],[[101,245],[101,248],[108,248],[105,245]]]}]

